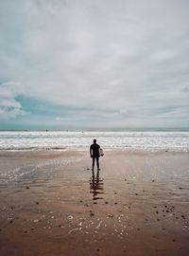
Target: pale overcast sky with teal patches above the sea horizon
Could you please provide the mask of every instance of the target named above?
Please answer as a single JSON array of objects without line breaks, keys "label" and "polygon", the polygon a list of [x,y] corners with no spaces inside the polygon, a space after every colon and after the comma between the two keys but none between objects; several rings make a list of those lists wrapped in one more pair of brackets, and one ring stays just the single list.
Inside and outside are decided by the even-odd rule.
[{"label": "pale overcast sky with teal patches above the sea horizon", "polygon": [[0,0],[0,129],[189,128],[189,1]]}]

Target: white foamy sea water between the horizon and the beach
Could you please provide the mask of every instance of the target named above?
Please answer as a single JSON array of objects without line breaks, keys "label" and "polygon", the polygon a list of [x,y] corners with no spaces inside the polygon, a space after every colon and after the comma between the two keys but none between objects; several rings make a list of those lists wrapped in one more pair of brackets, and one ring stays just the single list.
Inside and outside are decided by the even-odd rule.
[{"label": "white foamy sea water between the horizon and the beach", "polygon": [[0,150],[89,150],[93,139],[105,150],[189,152],[189,132],[1,131]]}]

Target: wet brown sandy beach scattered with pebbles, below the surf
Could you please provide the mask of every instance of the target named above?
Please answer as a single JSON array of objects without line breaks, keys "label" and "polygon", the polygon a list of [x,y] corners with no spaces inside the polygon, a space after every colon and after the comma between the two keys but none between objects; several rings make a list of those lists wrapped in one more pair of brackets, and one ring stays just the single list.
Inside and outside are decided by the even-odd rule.
[{"label": "wet brown sandy beach scattered with pebbles, below the surf", "polygon": [[189,255],[189,153],[0,153],[0,251]]}]

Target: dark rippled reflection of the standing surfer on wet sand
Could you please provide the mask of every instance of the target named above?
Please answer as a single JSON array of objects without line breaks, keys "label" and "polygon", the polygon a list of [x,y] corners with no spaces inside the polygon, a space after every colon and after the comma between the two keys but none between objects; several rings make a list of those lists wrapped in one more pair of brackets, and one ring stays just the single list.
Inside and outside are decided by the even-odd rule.
[{"label": "dark rippled reflection of the standing surfer on wet sand", "polygon": [[92,171],[92,178],[90,179],[90,192],[93,193],[93,200],[103,199],[99,194],[103,194],[104,182],[103,179],[99,176],[99,171],[97,171],[96,176],[94,175],[94,171]]}]

